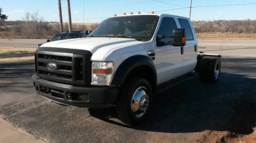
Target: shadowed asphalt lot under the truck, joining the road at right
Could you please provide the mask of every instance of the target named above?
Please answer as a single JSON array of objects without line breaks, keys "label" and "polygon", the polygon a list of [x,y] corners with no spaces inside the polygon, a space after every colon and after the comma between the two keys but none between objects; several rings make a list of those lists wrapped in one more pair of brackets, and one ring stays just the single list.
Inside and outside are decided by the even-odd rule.
[{"label": "shadowed asphalt lot under the truck, joining the road at right", "polygon": [[139,127],[123,125],[113,108],[62,106],[38,96],[29,62],[0,64],[0,116],[47,142],[215,142],[229,132],[252,133],[256,41],[199,41],[199,47],[222,55],[220,80],[195,77],[158,94]]}]

